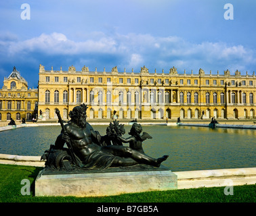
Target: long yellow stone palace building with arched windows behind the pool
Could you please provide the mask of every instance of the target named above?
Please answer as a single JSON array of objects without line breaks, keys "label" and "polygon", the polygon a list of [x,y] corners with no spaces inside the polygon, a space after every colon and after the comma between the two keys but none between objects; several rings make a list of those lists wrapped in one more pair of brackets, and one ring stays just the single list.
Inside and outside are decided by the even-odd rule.
[{"label": "long yellow stone palace building with arched windows behind the pool", "polygon": [[46,119],[57,119],[58,108],[68,119],[74,106],[85,103],[89,119],[111,119],[113,113],[119,119],[245,119],[255,117],[255,86],[254,72],[180,74],[173,67],[169,73],[150,73],[145,66],[140,72],[116,67],[92,72],[85,66],[62,71],[40,65],[38,110]]}]

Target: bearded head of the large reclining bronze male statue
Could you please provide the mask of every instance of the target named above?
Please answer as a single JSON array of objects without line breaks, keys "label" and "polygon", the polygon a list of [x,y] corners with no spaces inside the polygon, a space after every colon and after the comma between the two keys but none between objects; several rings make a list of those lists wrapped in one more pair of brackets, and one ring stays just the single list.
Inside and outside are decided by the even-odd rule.
[{"label": "bearded head of the large reclining bronze male statue", "polygon": [[87,105],[83,103],[80,106],[74,107],[72,111],[70,111],[68,114],[71,118],[71,121],[80,126],[81,128],[85,128],[86,126],[87,108]]}]

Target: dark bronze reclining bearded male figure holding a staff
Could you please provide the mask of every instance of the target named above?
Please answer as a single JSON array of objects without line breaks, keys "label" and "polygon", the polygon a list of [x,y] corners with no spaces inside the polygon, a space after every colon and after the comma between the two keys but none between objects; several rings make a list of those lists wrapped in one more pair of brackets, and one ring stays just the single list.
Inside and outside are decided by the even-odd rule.
[{"label": "dark bronze reclining bearded male figure holding a staff", "polygon": [[[167,159],[168,155],[155,159],[128,146],[116,144],[114,139],[120,137],[120,133],[112,130],[114,125],[119,126],[117,121],[113,126],[110,124],[111,132],[107,134],[110,138],[105,137],[104,140],[103,136],[94,131],[86,121],[87,108],[85,104],[74,107],[69,113],[71,119],[66,125],[63,124],[60,111],[56,110],[62,131],[55,144],[51,144],[50,149],[41,157],[47,160],[46,167],[57,170],[72,169],[72,167],[103,170],[108,167],[129,167],[137,164],[159,167]],[[117,136],[112,137],[114,133]],[[110,144],[111,138],[112,144]],[[65,143],[68,148],[64,148]]]}]

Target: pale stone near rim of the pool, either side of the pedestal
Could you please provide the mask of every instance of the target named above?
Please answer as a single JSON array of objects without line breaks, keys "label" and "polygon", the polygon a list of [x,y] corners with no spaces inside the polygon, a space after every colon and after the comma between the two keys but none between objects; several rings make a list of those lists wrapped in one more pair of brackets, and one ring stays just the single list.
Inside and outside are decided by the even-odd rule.
[{"label": "pale stone near rim of the pool, either side of the pedestal", "polygon": [[[40,156],[0,154],[0,164],[44,167]],[[196,171],[175,171],[177,189],[223,187],[256,184],[256,167],[236,169],[209,169]]]}]

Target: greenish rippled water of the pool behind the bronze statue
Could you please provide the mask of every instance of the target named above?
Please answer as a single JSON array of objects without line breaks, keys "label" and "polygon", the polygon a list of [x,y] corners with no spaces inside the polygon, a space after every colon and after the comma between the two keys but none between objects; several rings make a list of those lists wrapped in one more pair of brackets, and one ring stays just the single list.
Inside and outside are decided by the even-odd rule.
[{"label": "greenish rippled water of the pool behind the bronze statue", "polygon": [[[142,126],[153,138],[144,142],[152,157],[169,155],[163,165],[172,171],[256,167],[256,130],[206,127]],[[106,134],[106,126],[93,126]],[[125,126],[125,138],[131,126]],[[1,132],[0,153],[43,155],[54,144],[60,126],[19,128]],[[124,144],[127,145],[127,144]]]}]

